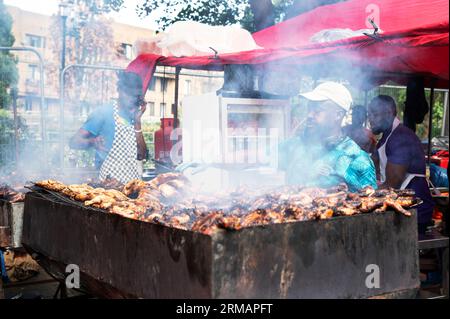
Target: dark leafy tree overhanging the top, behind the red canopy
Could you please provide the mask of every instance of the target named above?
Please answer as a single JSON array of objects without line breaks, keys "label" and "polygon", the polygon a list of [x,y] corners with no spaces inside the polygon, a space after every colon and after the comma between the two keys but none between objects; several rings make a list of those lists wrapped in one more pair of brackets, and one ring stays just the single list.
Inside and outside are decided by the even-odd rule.
[{"label": "dark leafy tree overhanging the top, behind the red canopy", "polygon": [[240,23],[250,32],[267,28],[277,22],[312,10],[324,4],[343,0],[144,0],[137,6],[140,16],[155,11],[164,30],[176,21],[193,20],[210,25]]}]

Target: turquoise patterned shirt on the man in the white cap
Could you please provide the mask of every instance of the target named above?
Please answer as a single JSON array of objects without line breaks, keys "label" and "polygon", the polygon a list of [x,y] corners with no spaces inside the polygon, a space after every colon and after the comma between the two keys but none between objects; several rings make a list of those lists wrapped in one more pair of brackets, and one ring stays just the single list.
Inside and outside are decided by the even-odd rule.
[{"label": "turquoise patterned shirt on the man in the white cap", "polygon": [[[306,145],[300,137],[293,137],[280,145],[278,159],[291,185],[327,188],[345,183],[350,191],[377,187],[372,159],[349,137],[333,147]],[[324,167],[331,169],[326,176]]]}]

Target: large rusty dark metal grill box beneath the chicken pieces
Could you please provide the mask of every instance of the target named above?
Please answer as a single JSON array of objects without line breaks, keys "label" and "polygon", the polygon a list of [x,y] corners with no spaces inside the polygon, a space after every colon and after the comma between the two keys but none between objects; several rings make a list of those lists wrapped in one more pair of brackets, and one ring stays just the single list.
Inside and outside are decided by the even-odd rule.
[{"label": "large rusty dark metal grill box beneath the chicken pieces", "polygon": [[[413,297],[419,287],[417,222],[360,214],[198,232],[132,220],[30,192],[23,244],[55,277],[76,264],[99,297]],[[380,287],[366,286],[368,265]]]}]

